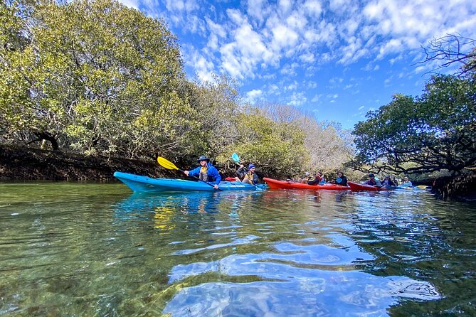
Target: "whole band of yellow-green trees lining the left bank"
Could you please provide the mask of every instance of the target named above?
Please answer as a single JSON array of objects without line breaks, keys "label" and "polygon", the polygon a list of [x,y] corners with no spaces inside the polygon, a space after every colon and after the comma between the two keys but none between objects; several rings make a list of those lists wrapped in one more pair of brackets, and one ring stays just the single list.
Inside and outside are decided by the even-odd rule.
[{"label": "whole band of yellow-green trees lining the left bank", "polygon": [[183,166],[199,154],[225,165],[238,152],[285,177],[317,162],[311,145],[324,134],[332,154],[348,152],[302,114],[248,107],[230,77],[187,80],[164,21],[117,1],[7,0],[0,22],[0,142]]}]

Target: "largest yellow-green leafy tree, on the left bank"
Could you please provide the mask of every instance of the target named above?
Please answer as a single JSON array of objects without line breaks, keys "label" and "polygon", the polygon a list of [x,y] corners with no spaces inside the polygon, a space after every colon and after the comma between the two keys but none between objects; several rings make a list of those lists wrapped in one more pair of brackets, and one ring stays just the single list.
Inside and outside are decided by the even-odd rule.
[{"label": "largest yellow-green leafy tree, on the left bank", "polygon": [[4,130],[47,131],[88,153],[190,148],[199,122],[179,92],[179,45],[163,21],[110,0],[41,1],[16,25],[30,44],[2,51]]}]

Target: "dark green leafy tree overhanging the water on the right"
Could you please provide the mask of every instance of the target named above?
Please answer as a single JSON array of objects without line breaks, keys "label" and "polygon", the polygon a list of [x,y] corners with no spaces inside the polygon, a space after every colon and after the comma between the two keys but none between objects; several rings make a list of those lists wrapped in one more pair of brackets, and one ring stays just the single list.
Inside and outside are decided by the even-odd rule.
[{"label": "dark green leafy tree overhanging the water on the right", "polygon": [[368,170],[461,171],[476,163],[476,85],[434,76],[421,97],[396,95],[354,129],[353,164]]}]

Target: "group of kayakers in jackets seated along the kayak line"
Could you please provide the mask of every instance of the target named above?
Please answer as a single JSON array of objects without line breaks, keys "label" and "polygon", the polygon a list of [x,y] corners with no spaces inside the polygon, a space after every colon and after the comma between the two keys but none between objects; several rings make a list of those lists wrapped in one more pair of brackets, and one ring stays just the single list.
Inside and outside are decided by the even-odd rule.
[{"label": "group of kayakers in jackets seated along the kayak line", "polygon": [[[198,176],[201,181],[209,182],[214,181],[215,185],[213,188],[218,189],[218,184],[221,182],[220,173],[218,170],[210,163],[210,159],[207,156],[200,156],[197,159],[200,166],[192,169],[191,171],[184,171],[186,176]],[[234,181],[241,181],[243,183],[248,183],[251,185],[255,185],[259,182],[258,175],[255,173],[256,166],[253,163],[248,165],[248,168],[245,168],[243,164],[240,164],[240,168],[238,168],[238,175],[239,177],[232,178]],[[306,175],[302,178],[297,180],[300,183],[305,183],[308,185],[322,185],[326,183],[322,172],[317,171],[314,176],[310,176],[310,173],[306,173]],[[340,186],[347,186],[347,176],[342,173],[342,171],[337,172],[337,177],[330,181],[329,183],[340,185]],[[390,176],[385,176],[384,181],[379,181],[378,178],[375,177],[374,173],[369,173],[369,179],[364,183],[366,185],[376,186],[376,187],[387,187],[387,186],[398,186],[398,181],[396,178],[391,179]],[[413,186],[411,181],[408,180],[408,177],[403,178],[403,182],[400,186]]]}]

